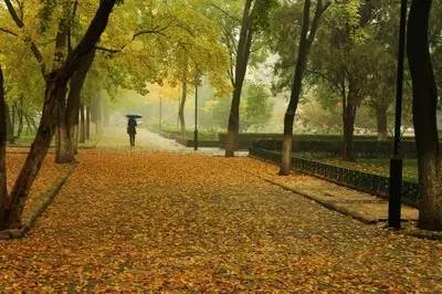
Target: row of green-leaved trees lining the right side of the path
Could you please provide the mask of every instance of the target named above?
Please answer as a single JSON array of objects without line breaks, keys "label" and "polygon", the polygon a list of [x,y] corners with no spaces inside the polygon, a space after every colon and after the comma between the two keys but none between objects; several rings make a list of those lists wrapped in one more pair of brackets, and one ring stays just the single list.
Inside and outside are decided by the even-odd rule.
[{"label": "row of green-leaved trees lining the right side of the path", "polygon": [[[436,85],[441,77],[434,76],[432,67],[432,60],[441,59],[442,23],[438,17],[441,4],[435,3],[433,10],[431,7],[432,1],[411,1],[408,21],[410,71],[404,91],[409,94],[406,95],[406,105],[412,105],[406,111],[412,108],[419,155],[422,195],[419,225],[442,230],[441,155],[436,126]],[[231,7],[224,7],[228,8]],[[228,20],[234,19],[231,13],[225,14]],[[225,27],[225,22],[221,25]],[[280,56],[275,71],[278,82],[274,90],[291,93],[284,118],[280,175],[291,171],[295,115],[301,97],[307,92],[320,95],[325,104],[332,99],[340,105],[344,159],[354,160],[355,119],[361,104],[372,108],[379,137],[386,139],[387,114],[394,97],[398,23],[399,6],[396,1],[243,1],[243,17],[238,22],[239,35],[234,39],[238,44],[230,51],[231,60],[235,61],[231,72],[235,75],[232,78],[234,91],[225,156],[233,156],[238,141],[244,64],[253,53],[253,42],[259,43],[260,36],[255,32],[270,36],[273,41],[270,51]]]}]

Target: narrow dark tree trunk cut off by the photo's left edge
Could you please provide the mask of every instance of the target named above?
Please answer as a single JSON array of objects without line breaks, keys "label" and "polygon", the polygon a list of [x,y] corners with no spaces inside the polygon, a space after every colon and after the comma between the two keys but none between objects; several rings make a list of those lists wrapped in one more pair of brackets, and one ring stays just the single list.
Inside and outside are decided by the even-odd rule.
[{"label": "narrow dark tree trunk cut off by the photo's left edge", "polygon": [[6,229],[9,202],[7,185],[7,105],[4,102],[3,72],[0,66],[0,230]]}]

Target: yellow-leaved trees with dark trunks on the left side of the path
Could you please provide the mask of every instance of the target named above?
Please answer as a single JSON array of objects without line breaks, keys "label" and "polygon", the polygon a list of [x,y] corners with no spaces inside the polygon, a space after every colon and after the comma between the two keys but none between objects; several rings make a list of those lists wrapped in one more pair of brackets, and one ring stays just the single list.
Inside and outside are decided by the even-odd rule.
[{"label": "yellow-leaved trees with dark trunks on the left side of the path", "polygon": [[[199,2],[0,2],[0,112],[9,114],[8,103],[23,97],[23,104],[32,105],[41,117],[10,192],[7,175],[1,174],[0,229],[21,225],[29,189],[53,137],[56,162],[74,160],[76,138],[82,137],[78,123],[101,119],[101,91],[110,96],[117,88],[145,94],[147,85],[161,85],[164,81],[186,88],[194,86],[202,75],[220,93],[230,91],[224,78],[227,51],[218,42],[215,22],[202,13],[204,8]],[[91,105],[92,111],[83,105]],[[6,122],[7,117],[1,119],[1,128],[8,128]],[[7,135],[1,138],[1,146],[7,139]],[[4,171],[3,151],[1,156]]]}]

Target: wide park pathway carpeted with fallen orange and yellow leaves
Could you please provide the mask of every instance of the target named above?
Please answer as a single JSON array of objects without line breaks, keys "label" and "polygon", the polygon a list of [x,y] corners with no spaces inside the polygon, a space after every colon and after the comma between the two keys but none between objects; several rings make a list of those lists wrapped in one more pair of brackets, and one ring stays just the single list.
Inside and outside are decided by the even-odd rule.
[{"label": "wide park pathway carpeted with fallen orange and yellow leaves", "polygon": [[82,150],[0,292],[442,292],[442,243],[329,211],[244,169],[250,158]]}]

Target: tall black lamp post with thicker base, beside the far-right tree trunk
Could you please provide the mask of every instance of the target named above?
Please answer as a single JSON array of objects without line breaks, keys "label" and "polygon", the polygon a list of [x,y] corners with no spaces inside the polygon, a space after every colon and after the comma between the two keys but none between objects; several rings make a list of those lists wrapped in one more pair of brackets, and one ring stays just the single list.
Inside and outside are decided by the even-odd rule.
[{"label": "tall black lamp post with thicker base, beside the far-right tree trunk", "polygon": [[402,96],[403,96],[403,62],[406,51],[408,0],[401,0],[399,23],[399,50],[398,73],[396,88],[396,115],[394,115],[394,144],[393,157],[390,159],[390,193],[388,201],[388,227],[400,229],[401,223],[401,192],[402,192],[402,157],[400,155]]}]

